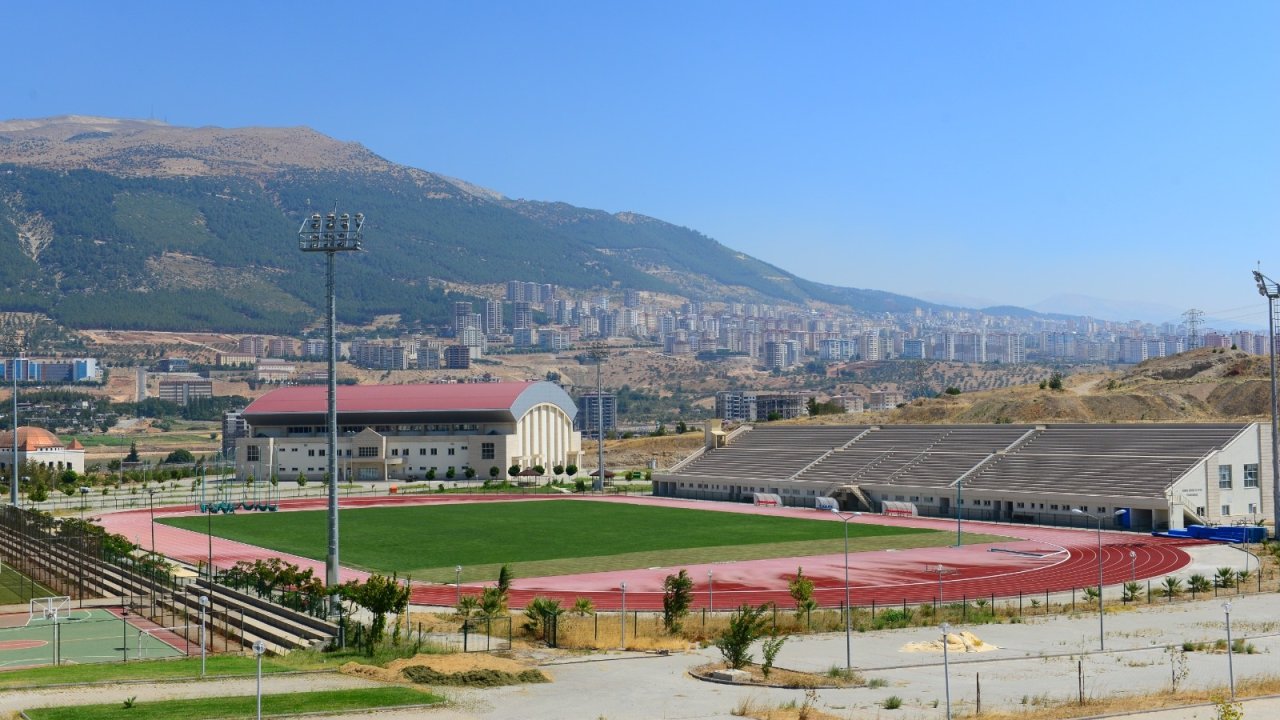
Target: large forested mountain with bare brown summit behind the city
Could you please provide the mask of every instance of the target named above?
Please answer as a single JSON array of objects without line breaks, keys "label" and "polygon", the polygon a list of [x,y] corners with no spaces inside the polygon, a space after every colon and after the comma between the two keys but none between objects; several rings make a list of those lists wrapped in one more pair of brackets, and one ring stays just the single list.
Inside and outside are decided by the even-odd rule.
[{"label": "large forested mountain with bare brown summit behind the city", "polygon": [[0,310],[70,327],[291,332],[323,304],[311,211],[361,211],[344,322],[447,322],[440,282],[628,287],[694,299],[937,307],[813,283],[632,213],[512,200],[308,128],[61,117],[0,123]]}]

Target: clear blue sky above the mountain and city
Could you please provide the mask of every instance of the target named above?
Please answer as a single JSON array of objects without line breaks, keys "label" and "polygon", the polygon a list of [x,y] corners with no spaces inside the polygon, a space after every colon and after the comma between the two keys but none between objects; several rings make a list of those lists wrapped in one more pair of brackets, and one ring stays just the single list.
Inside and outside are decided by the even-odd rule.
[{"label": "clear blue sky above the mountain and city", "polygon": [[5,24],[4,118],[308,126],[833,284],[1265,327],[1249,273],[1280,277],[1280,3],[49,1]]}]

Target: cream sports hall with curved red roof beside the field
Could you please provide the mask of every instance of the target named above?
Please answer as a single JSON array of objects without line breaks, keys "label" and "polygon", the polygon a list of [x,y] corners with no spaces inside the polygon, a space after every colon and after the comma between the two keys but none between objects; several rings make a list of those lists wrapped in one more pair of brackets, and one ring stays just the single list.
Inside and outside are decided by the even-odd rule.
[{"label": "cream sports hall with curved red roof beside the field", "polygon": [[[284,387],[242,413],[236,446],[241,478],[282,480],[328,471],[326,388]],[[429,470],[488,477],[511,465],[580,465],[577,409],[549,382],[343,386],[338,388],[338,475],[347,480],[420,480]]]}]

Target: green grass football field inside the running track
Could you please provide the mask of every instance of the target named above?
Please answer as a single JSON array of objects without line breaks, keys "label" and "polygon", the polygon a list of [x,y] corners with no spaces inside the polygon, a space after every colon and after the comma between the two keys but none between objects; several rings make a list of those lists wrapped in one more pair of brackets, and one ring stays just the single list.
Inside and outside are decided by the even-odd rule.
[{"label": "green grass football field inside the running track", "polygon": [[[215,515],[218,537],[324,560],[328,515]],[[165,524],[204,534],[204,516]],[[823,555],[844,550],[842,523],[616,502],[534,501],[356,507],[339,515],[343,565],[453,582],[493,579],[508,562],[518,577],[673,564]],[[1002,539],[1002,538],[1001,538]],[[966,536],[966,542],[993,542]],[[851,552],[942,546],[950,532],[850,523]]]}]

